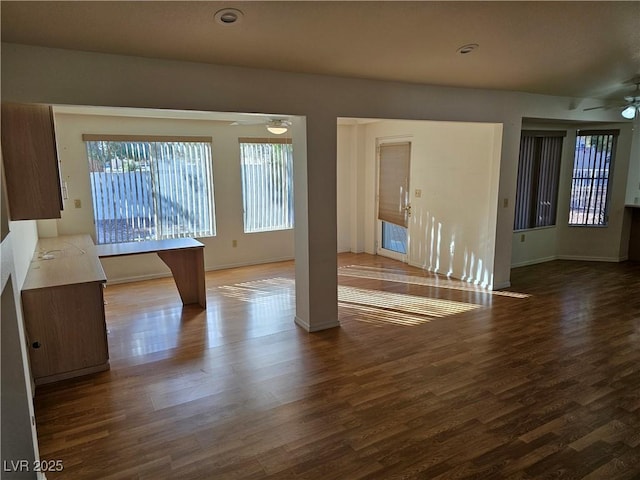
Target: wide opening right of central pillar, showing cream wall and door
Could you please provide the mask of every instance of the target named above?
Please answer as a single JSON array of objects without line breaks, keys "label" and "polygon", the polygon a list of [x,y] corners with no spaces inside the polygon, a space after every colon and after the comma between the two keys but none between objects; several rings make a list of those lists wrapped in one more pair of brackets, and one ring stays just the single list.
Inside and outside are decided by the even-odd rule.
[{"label": "wide opening right of central pillar, showing cream wall and door", "polygon": [[[380,162],[385,145],[403,143],[406,162]],[[339,118],[337,152],[339,252],[493,286],[501,124]]]}]

